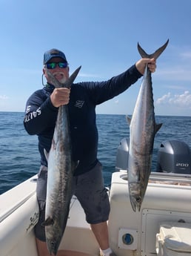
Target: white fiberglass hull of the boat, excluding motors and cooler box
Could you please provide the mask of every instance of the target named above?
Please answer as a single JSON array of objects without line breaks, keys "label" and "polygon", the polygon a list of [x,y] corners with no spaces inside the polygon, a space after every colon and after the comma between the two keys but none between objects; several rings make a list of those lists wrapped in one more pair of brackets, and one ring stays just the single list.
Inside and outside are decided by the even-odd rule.
[{"label": "white fiberglass hull of the boat, excluding motors and cooler box", "polygon": [[[36,177],[0,195],[1,256],[37,256],[33,228],[38,221]],[[191,177],[151,174],[140,212],[130,205],[127,174],[113,174],[110,188],[110,246],[118,256],[153,256],[156,234],[164,221],[191,223]],[[131,243],[125,234],[133,237]],[[99,247],[76,197],[70,204],[61,250],[69,255],[98,255]],[[73,251],[73,253],[71,252]],[[187,254],[187,256],[190,256]]]}]

